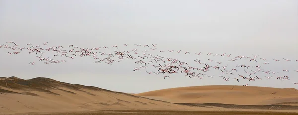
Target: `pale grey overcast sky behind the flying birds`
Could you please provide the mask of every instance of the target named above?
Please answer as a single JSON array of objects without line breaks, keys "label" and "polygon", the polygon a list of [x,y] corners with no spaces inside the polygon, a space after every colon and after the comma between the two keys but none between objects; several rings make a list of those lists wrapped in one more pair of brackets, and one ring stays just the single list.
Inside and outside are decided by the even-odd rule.
[{"label": "pale grey overcast sky behind the flying birds", "polygon": [[[297,0],[0,0],[0,44],[13,41],[18,47],[27,43],[43,48],[68,45],[83,48],[103,47],[98,52],[113,53],[139,49],[167,58],[179,59],[189,66],[202,68],[199,59],[211,66],[261,65],[262,80],[236,82],[237,74],[248,76],[239,68],[235,75],[224,74],[230,81],[218,77],[220,71],[213,68],[206,73],[214,78],[188,78],[185,74],[148,74],[156,68],[132,71],[136,60],[96,64],[92,57],[63,58],[67,62],[44,64],[35,54],[22,51],[9,55],[0,48],[0,76],[16,76],[22,79],[48,77],[58,81],[96,86],[108,90],[141,93],[146,91],[200,85],[243,85],[296,88],[298,85],[298,1]],[[47,45],[42,43],[48,42]],[[123,44],[129,44],[124,46]],[[134,44],[142,44],[138,47]],[[143,47],[148,44],[149,47]],[[156,50],[151,50],[157,44]],[[118,45],[118,49],[112,48]],[[9,45],[13,46],[13,45]],[[149,52],[142,52],[149,50]],[[165,50],[164,53],[159,51]],[[169,53],[167,50],[182,50]],[[190,54],[184,54],[189,51]],[[95,51],[94,51],[95,52]],[[202,52],[201,55],[195,53]],[[231,58],[210,56],[207,53],[232,54]],[[258,63],[249,59],[227,61],[238,55],[259,55],[267,61]],[[44,52],[44,57],[53,57]],[[131,54],[134,56],[134,54]],[[106,56],[99,55],[100,58]],[[137,57],[137,55],[136,55]],[[276,62],[274,59],[281,60]],[[285,61],[282,58],[291,61]],[[62,59],[62,57],[55,57]],[[141,59],[141,58],[139,58]],[[207,59],[223,62],[217,64]],[[36,61],[35,65],[28,64]],[[147,60],[147,62],[149,59]],[[269,62],[270,64],[262,64]],[[257,69],[257,68],[253,68]],[[290,72],[283,72],[288,69]],[[249,69],[247,69],[249,70]],[[274,76],[267,79],[266,76]],[[290,80],[276,80],[277,76],[289,76]]]}]

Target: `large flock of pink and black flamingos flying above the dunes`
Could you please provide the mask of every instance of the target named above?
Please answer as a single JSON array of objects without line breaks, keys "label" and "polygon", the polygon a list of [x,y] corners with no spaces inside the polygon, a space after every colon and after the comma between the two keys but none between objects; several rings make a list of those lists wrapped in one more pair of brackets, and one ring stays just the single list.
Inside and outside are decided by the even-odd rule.
[{"label": "large flock of pink and black flamingos flying above the dunes", "polygon": [[[114,45],[112,47],[95,47],[95,48],[80,48],[77,46],[69,45],[67,48],[68,50],[64,49],[64,46],[52,46],[52,47],[46,47],[47,43],[43,43],[42,45],[32,45],[30,43],[26,44],[25,47],[20,47],[18,44],[15,42],[6,42],[6,44],[0,45],[0,48],[6,48],[10,49],[12,51],[8,51],[7,54],[9,55],[17,55],[24,50],[27,50],[29,54],[34,54],[36,55],[37,58],[39,58],[39,61],[43,61],[44,64],[54,64],[54,63],[62,63],[62,62],[67,62],[66,60],[54,60],[51,59],[50,57],[43,57],[43,54],[45,52],[55,52],[53,57],[59,56],[59,57],[66,57],[68,59],[74,59],[76,57],[91,57],[95,59],[94,63],[105,63],[112,65],[114,62],[120,62],[123,59],[132,59],[135,60],[135,64],[138,64],[136,68],[132,69],[132,71],[139,71],[141,69],[145,69],[148,67],[154,67],[156,68],[155,71],[146,71],[148,74],[163,74],[164,79],[169,78],[171,74],[175,73],[183,73],[185,74],[186,77],[197,77],[199,79],[202,79],[203,77],[210,77],[213,78],[213,75],[207,75],[207,73],[210,70],[217,70],[222,73],[222,75],[218,77],[222,77],[223,80],[225,81],[230,81],[234,80],[235,82],[239,82],[239,80],[247,80],[247,81],[255,81],[255,80],[262,80],[264,79],[270,79],[274,77],[277,80],[290,80],[290,77],[286,75],[286,72],[289,71],[294,71],[298,72],[298,70],[281,70],[283,74],[285,73],[284,76],[275,76],[276,73],[279,72],[273,72],[271,70],[264,70],[261,69],[263,65],[269,64],[269,60],[272,61],[292,61],[289,59],[264,59],[260,58],[259,55],[252,55],[251,57],[249,56],[232,56],[232,54],[214,54],[211,52],[208,52],[206,54],[203,54],[202,52],[199,53],[194,53],[196,55],[207,55],[207,56],[220,56],[220,57],[227,57],[229,59],[228,61],[238,61],[238,60],[247,60],[249,63],[255,63],[259,64],[256,66],[252,65],[236,65],[236,66],[231,66],[228,67],[227,65],[224,66],[219,66],[222,62],[217,62],[211,59],[206,60],[205,62],[202,62],[199,59],[193,60],[195,63],[198,65],[201,65],[200,67],[193,67],[189,66],[187,62],[183,62],[178,59],[174,58],[166,58],[162,57],[160,55],[152,55],[149,54],[149,50],[154,50],[156,52],[162,53],[162,52],[171,52],[171,53],[183,53],[184,55],[190,54],[188,51],[175,51],[175,50],[167,50],[167,51],[160,51],[156,50],[156,45],[157,44],[150,44],[150,45],[139,45],[139,44],[134,44],[136,47],[143,47],[147,48],[148,50],[141,50],[140,48],[138,49],[131,49],[130,51],[114,51],[112,53],[105,53],[105,52],[100,52],[102,49],[106,48],[113,48],[114,50],[118,50],[118,48],[121,47],[126,47],[128,44],[124,44],[121,46]],[[44,48],[46,47],[46,48]],[[150,48],[149,48],[150,47]],[[102,56],[105,56],[102,58]],[[101,58],[99,58],[101,57]],[[117,58],[117,59],[115,59]],[[293,60],[294,61],[294,60]],[[37,61],[36,61],[37,62]],[[35,65],[36,62],[30,62],[29,64]],[[261,62],[261,63],[260,63]],[[214,63],[214,65],[209,65],[208,63]],[[298,63],[298,60],[295,60],[295,63]],[[237,72],[243,71],[245,73],[243,74],[238,74]],[[237,73],[237,74],[236,74]],[[260,74],[258,73],[266,73],[267,76],[259,76]],[[230,79],[228,76],[235,75],[237,77]],[[297,84],[298,83],[295,83]],[[244,84],[243,86],[248,86],[249,84]]]}]

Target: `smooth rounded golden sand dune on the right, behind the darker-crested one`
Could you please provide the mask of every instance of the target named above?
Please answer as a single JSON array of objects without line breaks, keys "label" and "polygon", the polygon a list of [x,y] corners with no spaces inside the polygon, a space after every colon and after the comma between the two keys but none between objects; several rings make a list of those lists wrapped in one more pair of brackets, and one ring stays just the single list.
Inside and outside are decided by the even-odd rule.
[{"label": "smooth rounded golden sand dune on the right, behind the darker-crested one", "polygon": [[238,105],[298,105],[298,90],[255,86],[194,86],[135,94],[173,103],[224,103]]}]

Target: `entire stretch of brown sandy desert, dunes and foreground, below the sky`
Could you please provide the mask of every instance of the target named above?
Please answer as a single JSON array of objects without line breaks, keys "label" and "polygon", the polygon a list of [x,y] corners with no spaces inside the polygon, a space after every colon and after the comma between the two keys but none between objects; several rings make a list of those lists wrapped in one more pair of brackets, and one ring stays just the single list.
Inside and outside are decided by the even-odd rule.
[{"label": "entire stretch of brown sandy desert, dunes and foreground, below the sky", "polygon": [[298,90],[195,86],[128,94],[49,78],[0,77],[2,115],[297,115]]}]

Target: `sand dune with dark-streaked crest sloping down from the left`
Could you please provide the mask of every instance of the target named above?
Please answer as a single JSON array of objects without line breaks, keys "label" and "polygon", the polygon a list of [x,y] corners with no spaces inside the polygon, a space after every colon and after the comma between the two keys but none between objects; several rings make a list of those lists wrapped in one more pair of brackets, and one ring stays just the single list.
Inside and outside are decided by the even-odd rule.
[{"label": "sand dune with dark-streaked crest sloping down from the left", "polygon": [[[6,85],[7,83],[7,85]],[[92,86],[74,85],[49,78],[0,78],[0,113],[62,112],[98,109],[192,109]]]}]

